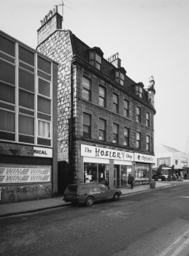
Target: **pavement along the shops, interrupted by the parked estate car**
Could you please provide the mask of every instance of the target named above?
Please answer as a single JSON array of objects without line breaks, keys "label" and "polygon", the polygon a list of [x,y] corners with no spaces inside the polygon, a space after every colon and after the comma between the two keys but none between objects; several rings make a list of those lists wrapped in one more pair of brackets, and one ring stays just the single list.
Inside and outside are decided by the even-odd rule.
[{"label": "pavement along the shops, interrupted by the parked estate car", "polygon": [[[175,183],[171,181],[164,181],[164,182],[156,182],[155,189],[151,189],[149,184],[146,185],[137,185],[133,187],[133,190],[130,187],[127,188],[120,188],[122,192],[122,196],[127,196],[133,193],[142,193],[148,190],[156,190],[162,187],[167,186],[174,186]],[[49,199],[37,199],[37,200],[30,200],[18,203],[3,203],[0,204],[0,218],[5,216],[11,215],[19,215],[25,214],[30,212],[39,212],[46,209],[53,209],[62,206],[69,206],[70,203],[66,203],[62,200],[62,196],[52,197]]]}]

